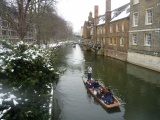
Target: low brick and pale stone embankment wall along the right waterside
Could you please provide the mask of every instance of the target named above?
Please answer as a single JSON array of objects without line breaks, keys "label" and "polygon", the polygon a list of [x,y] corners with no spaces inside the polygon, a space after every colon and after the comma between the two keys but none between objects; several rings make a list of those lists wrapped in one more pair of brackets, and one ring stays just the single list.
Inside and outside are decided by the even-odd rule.
[{"label": "low brick and pale stone embankment wall along the right waterside", "polygon": [[144,67],[153,71],[160,72],[160,57],[146,55],[135,52],[119,52],[115,50],[108,50],[104,48],[97,49],[96,51],[92,50],[93,48],[90,45],[82,44],[83,50],[92,51],[97,55],[104,55],[112,57],[118,60],[122,60],[140,67]]}]

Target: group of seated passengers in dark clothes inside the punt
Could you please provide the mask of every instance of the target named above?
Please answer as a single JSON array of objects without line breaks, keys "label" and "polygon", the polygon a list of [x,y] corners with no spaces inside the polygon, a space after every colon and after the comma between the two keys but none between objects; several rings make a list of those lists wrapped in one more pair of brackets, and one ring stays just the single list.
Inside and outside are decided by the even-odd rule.
[{"label": "group of seated passengers in dark clothes inside the punt", "polygon": [[101,99],[106,104],[113,104],[114,98],[110,89],[102,87],[97,80],[86,81],[88,88],[91,88],[94,91],[94,94]]}]

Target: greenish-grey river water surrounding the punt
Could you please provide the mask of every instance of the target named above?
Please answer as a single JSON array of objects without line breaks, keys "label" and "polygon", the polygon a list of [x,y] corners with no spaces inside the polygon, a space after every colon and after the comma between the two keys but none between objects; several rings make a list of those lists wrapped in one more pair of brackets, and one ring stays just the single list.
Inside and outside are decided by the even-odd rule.
[{"label": "greenish-grey river water surrounding the punt", "polygon": [[[59,50],[59,69],[66,71],[55,83],[55,120],[160,120],[160,73],[110,57],[86,52],[79,45]],[[86,90],[82,76],[88,65],[92,77],[112,89],[119,108],[103,108]]]}]

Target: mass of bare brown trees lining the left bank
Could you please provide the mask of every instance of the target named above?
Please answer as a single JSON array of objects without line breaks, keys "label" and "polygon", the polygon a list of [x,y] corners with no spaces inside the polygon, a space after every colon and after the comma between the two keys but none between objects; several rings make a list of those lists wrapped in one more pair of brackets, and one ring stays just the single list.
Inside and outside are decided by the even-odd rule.
[{"label": "mass of bare brown trees lining the left bank", "polygon": [[23,40],[30,26],[36,28],[37,43],[72,36],[72,26],[55,9],[56,0],[1,0],[0,15]]}]

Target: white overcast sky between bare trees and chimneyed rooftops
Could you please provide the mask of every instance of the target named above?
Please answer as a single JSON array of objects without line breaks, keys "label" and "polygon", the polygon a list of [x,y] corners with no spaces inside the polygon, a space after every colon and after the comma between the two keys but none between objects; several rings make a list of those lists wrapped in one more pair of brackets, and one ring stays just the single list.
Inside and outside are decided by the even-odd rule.
[{"label": "white overcast sky between bare trees and chimneyed rooftops", "polygon": [[[60,16],[70,21],[74,32],[80,32],[84,21],[88,20],[89,12],[94,16],[94,6],[99,6],[99,15],[105,13],[106,0],[59,0],[57,10]],[[111,0],[111,9],[118,8],[130,0]]]}]

